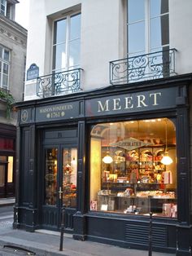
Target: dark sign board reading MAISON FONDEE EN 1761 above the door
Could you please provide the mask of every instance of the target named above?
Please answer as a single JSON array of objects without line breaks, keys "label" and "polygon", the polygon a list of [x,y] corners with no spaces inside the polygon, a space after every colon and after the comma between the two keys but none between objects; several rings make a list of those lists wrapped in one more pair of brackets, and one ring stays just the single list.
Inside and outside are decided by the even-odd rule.
[{"label": "dark sign board reading MAISON FONDEE EN 1761 above the door", "polygon": [[36,118],[39,121],[56,121],[79,117],[79,102],[52,104],[36,108]]}]

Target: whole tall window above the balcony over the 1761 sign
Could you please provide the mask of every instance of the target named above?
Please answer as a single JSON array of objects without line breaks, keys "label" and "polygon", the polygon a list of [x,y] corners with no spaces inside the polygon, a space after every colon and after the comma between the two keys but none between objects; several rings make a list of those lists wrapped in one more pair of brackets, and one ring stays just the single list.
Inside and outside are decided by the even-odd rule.
[{"label": "whole tall window above the balcony over the 1761 sign", "polygon": [[53,72],[79,68],[81,14],[68,15],[54,24]]}]

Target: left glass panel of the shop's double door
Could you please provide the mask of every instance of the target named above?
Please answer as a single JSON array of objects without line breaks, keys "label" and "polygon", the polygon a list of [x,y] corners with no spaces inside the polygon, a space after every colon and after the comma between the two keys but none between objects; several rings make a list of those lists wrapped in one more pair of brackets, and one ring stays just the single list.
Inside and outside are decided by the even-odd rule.
[{"label": "left glass panel of the shop's double door", "polygon": [[46,148],[45,204],[56,205],[58,149]]}]

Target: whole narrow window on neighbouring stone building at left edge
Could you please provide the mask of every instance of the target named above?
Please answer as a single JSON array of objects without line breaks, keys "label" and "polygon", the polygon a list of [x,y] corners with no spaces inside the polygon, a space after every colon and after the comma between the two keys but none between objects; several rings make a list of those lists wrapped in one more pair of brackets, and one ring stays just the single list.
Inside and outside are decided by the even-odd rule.
[{"label": "whole narrow window on neighbouring stone building at left edge", "polygon": [[8,90],[10,51],[0,46],[0,87]]}]

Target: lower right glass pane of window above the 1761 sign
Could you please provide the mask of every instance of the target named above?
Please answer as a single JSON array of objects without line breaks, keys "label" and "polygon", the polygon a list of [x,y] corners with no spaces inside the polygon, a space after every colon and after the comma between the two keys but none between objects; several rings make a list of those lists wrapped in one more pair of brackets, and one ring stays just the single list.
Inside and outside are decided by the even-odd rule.
[{"label": "lower right glass pane of window above the 1761 sign", "polygon": [[70,42],[69,46],[69,68],[80,64],[80,40]]}]

